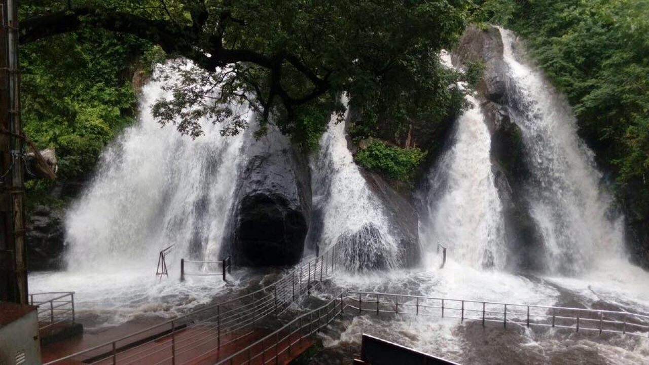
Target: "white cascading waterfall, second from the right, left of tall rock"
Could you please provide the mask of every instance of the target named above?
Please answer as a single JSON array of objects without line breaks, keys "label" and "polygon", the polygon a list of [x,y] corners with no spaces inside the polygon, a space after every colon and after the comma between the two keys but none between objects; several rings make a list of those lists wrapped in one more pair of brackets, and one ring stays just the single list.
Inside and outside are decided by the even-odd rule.
[{"label": "white cascading waterfall, second from the right, left of tall rock", "polygon": [[[447,53],[443,63],[452,67]],[[504,222],[491,171],[491,136],[478,101],[467,101],[471,107],[458,118],[450,148],[428,174],[421,241],[447,245],[454,260],[474,268],[502,268]]]}]

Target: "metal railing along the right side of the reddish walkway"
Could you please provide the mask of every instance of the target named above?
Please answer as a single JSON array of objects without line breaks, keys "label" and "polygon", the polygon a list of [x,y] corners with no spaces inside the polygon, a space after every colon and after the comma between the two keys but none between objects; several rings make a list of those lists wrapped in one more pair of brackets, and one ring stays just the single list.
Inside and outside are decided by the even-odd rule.
[{"label": "metal railing along the right side of the reddish walkway", "polygon": [[219,364],[278,364],[286,353],[287,360],[291,359],[291,350],[302,344],[304,338],[324,329],[345,310],[344,294],[341,292],[322,307],[302,314],[286,323],[282,328],[249,344],[236,353],[216,362]]}]

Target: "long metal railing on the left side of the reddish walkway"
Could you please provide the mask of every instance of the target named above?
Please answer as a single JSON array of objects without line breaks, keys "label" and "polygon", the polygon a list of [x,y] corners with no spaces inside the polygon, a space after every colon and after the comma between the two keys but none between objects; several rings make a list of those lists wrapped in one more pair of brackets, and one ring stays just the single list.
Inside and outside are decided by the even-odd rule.
[{"label": "long metal railing on the left side of the reddish walkway", "polygon": [[[83,359],[88,364],[183,364],[223,346],[247,345],[260,320],[278,317],[315,284],[337,269],[337,244],[320,257],[299,264],[275,283],[252,293],[195,310],[142,331],[48,362]],[[188,261],[185,261],[188,262]],[[188,274],[185,274],[188,275]],[[198,354],[198,355],[197,355]]]}]

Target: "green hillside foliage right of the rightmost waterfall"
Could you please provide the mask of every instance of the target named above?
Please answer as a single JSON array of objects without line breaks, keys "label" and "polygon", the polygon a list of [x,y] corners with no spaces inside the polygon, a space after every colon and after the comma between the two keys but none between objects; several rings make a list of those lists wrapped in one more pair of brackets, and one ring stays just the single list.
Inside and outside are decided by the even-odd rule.
[{"label": "green hillside foliage right of the rightmost waterfall", "polygon": [[[487,0],[484,17],[524,36],[580,129],[649,212],[649,1]],[[649,213],[648,213],[649,214]]]}]

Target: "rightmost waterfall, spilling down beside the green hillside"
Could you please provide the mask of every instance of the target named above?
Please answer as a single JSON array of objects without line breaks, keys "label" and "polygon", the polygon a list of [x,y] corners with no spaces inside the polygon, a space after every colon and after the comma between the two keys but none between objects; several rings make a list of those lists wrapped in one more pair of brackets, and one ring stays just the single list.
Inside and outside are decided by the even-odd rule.
[{"label": "rightmost waterfall, spilling down beside the green hillside", "polygon": [[577,273],[594,260],[624,257],[623,220],[602,189],[593,152],[577,135],[567,101],[518,53],[515,36],[504,44],[508,107],[522,132],[530,168],[526,195],[552,272]]}]

